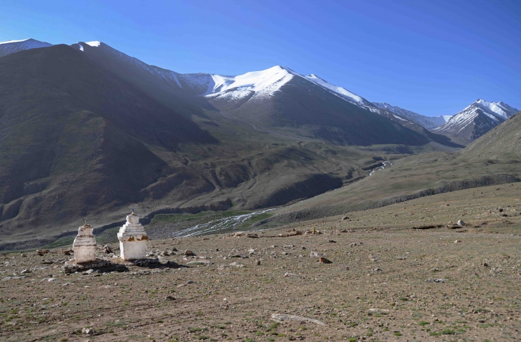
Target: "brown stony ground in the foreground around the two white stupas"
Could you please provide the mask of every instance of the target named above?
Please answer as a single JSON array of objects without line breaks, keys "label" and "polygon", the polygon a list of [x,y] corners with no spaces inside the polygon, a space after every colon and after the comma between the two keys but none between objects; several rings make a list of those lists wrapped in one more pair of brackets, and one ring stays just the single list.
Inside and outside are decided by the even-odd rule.
[{"label": "brown stony ground in the foreground around the two white stupas", "polygon": [[1,254],[0,340],[518,341],[521,193],[501,188],[257,238],[149,241],[159,263],[124,263],[112,244],[99,257],[128,269],[106,273],[65,274],[60,249]]}]

